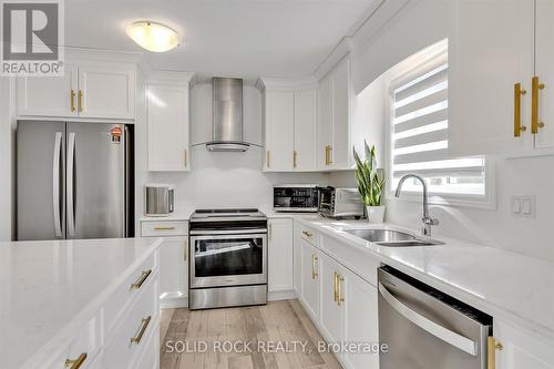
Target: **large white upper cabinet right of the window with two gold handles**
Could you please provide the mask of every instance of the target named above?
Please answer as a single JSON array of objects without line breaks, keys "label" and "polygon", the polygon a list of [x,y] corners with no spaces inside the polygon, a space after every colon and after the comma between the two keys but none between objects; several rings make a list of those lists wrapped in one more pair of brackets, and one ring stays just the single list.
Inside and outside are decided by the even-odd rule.
[{"label": "large white upper cabinet right of the window with two gold handles", "polygon": [[554,107],[547,103],[554,86],[554,3],[536,1],[536,22],[534,4],[456,1],[449,41],[452,154],[516,156],[554,145]]}]

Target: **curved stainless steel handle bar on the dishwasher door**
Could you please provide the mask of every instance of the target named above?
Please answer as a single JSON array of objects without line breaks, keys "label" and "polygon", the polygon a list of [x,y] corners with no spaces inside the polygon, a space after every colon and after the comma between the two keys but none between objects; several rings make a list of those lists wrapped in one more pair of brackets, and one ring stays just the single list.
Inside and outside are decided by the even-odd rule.
[{"label": "curved stainless steel handle bar on the dishwasher door", "polygon": [[410,309],[408,306],[399,301],[394,296],[389,293],[389,290],[381,284],[379,283],[379,293],[381,296],[384,298],[389,305],[397,310],[398,314],[403,316],[406,319],[410,320],[413,322],[416,326],[420,327],[421,329],[428,331],[429,334],[433,335],[434,337],[443,340],[444,342],[464,351],[468,352],[469,355],[472,356],[478,356],[478,345],[475,341],[472,341],[471,339],[463,337],[450,329],[447,329],[442,327],[441,325],[438,325],[437,322],[429,320],[421,314],[413,311]]}]

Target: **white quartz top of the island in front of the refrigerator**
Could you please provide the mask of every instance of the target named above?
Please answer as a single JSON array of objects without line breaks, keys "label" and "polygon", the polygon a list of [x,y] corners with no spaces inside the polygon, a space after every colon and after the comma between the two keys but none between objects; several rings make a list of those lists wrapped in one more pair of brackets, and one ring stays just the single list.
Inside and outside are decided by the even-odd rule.
[{"label": "white quartz top of the island in front of the refrigerator", "polygon": [[0,368],[25,367],[62,345],[161,242],[0,243]]}]

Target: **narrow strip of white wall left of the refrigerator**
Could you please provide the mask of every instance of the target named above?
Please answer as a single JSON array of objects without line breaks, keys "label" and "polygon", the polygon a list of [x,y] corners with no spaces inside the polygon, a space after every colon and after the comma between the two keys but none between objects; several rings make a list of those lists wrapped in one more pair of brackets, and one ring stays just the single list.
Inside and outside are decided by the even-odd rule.
[{"label": "narrow strip of white wall left of the refrigerator", "polygon": [[14,127],[12,120],[13,99],[8,78],[0,78],[0,240],[11,240],[14,222]]}]

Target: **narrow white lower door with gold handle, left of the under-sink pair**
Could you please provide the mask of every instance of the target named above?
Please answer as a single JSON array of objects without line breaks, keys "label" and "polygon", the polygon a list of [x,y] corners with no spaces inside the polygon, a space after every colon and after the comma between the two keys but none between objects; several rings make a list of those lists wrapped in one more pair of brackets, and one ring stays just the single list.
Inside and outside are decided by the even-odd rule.
[{"label": "narrow white lower door with gold handle, left of the under-sink pair", "polygon": [[319,321],[319,289],[320,268],[317,248],[306,240],[300,242],[301,247],[301,299],[306,312],[314,321]]}]

